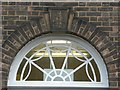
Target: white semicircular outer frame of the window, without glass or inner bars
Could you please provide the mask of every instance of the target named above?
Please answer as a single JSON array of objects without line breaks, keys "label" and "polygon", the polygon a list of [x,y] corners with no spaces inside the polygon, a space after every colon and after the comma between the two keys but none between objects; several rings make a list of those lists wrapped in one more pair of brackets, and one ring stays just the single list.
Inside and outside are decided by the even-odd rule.
[{"label": "white semicircular outer frame of the window, without glass or inner bars", "polygon": [[[49,40],[68,40],[68,41],[75,41],[79,43],[81,47],[86,49],[95,59],[95,62],[98,66],[101,76],[101,82],[51,82],[51,81],[16,81],[17,71],[19,66],[23,60],[23,57],[34,47],[38,46],[39,43],[43,41]],[[8,87],[12,86],[32,86],[32,87],[109,87],[108,84],[108,74],[106,65],[98,53],[98,51],[89,44],[86,40],[69,34],[49,34],[43,35],[38,38],[33,39],[32,41],[28,42],[16,55],[14,61],[10,67],[9,77],[8,77]]]}]

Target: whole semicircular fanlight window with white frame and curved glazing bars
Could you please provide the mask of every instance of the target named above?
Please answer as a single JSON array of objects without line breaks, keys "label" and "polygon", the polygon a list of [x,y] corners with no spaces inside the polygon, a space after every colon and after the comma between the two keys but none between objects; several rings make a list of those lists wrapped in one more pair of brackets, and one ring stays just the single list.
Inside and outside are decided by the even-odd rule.
[{"label": "whole semicircular fanlight window with white frame and curved glazing bars", "polygon": [[8,86],[108,87],[108,75],[98,51],[84,39],[43,35],[16,55]]}]

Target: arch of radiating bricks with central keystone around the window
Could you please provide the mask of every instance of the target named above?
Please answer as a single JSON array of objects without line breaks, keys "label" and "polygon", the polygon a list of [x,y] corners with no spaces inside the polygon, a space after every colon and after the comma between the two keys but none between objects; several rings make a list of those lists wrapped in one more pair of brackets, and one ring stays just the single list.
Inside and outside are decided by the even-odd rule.
[{"label": "arch of radiating bricks with central keystone around the window", "polygon": [[[74,16],[74,13],[68,9],[57,10],[65,14],[63,16],[54,15],[56,9],[51,9],[49,13],[43,13],[41,17],[36,17],[29,22],[26,22],[7,38],[3,43],[2,48],[2,74],[3,82],[7,85],[7,77],[11,63],[19,50],[32,39],[49,33],[69,33],[84,38],[91,43],[103,57],[109,74],[110,84],[113,81],[109,63],[114,59],[117,50],[111,43],[110,39],[95,25]],[[56,18],[61,18],[56,19]],[[64,20],[64,21],[63,21]]]}]

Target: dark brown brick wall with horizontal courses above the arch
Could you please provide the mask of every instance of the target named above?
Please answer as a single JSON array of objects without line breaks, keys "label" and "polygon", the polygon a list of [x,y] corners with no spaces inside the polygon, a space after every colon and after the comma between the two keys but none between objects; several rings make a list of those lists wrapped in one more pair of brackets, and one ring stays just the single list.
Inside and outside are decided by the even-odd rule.
[{"label": "dark brown brick wall with horizontal courses above the arch", "polygon": [[[52,2],[2,2],[3,40],[6,40],[16,26],[30,20],[32,17],[40,16],[47,7],[55,5],[57,4]],[[101,27],[111,41],[117,44],[118,2],[66,2],[63,6],[73,7],[77,17]]]}]

